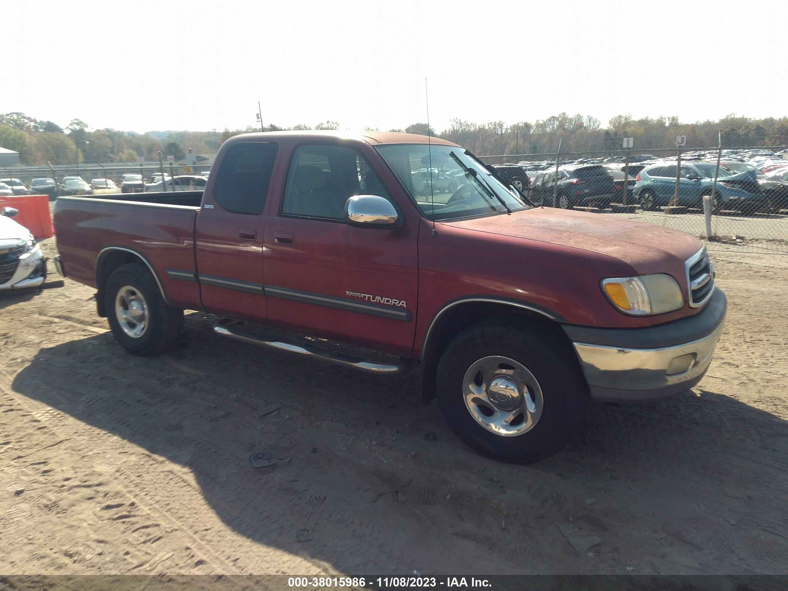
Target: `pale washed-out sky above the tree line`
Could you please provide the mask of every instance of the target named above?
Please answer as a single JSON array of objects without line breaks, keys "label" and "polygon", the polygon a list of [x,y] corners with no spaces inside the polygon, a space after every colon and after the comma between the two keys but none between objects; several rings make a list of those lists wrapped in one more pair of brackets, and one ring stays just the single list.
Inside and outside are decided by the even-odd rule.
[{"label": "pale washed-out sky above the tree line", "polygon": [[788,115],[785,1],[3,2],[0,113],[126,131]]}]

